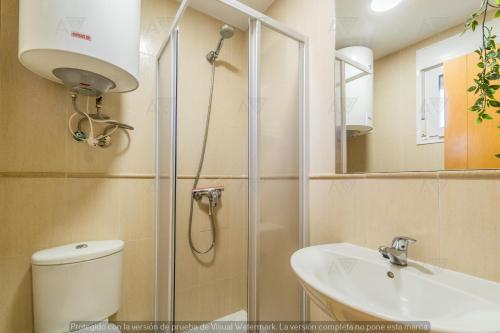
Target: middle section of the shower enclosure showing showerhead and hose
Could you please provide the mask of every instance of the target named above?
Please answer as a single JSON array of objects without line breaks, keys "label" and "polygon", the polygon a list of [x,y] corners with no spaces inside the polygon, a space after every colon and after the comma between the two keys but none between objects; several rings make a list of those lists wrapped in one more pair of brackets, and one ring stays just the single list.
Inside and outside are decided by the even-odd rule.
[{"label": "middle section of the shower enclosure showing showerhead and hose", "polygon": [[177,322],[247,320],[248,38],[225,25],[190,8],[179,24]]}]

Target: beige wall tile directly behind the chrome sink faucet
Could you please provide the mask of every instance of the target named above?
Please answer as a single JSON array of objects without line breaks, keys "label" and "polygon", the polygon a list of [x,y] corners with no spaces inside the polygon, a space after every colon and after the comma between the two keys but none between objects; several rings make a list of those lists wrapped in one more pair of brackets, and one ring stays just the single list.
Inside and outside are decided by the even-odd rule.
[{"label": "beige wall tile directly behind the chrome sink faucet", "polygon": [[367,246],[390,245],[394,236],[417,239],[412,258],[434,261],[439,258],[439,203],[437,181],[428,179],[363,181]]}]

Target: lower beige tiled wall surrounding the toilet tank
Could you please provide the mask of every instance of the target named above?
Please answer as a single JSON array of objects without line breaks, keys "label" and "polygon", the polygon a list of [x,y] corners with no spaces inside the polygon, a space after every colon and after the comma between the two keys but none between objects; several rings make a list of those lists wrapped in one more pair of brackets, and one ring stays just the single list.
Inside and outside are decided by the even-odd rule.
[{"label": "lower beige tiled wall surrounding the toilet tank", "polygon": [[[0,178],[2,322],[19,331],[19,325],[32,325],[30,257],[35,251],[100,239],[130,240],[118,318],[152,318],[152,301],[147,316],[143,305],[152,299],[154,284],[153,190],[153,180],[147,179]],[[21,273],[28,275],[23,277],[27,283]],[[130,287],[130,281],[140,283]],[[16,294],[7,297],[12,288]],[[19,308],[22,297],[28,297],[29,306]],[[13,331],[18,330],[0,327],[2,333]]]}]

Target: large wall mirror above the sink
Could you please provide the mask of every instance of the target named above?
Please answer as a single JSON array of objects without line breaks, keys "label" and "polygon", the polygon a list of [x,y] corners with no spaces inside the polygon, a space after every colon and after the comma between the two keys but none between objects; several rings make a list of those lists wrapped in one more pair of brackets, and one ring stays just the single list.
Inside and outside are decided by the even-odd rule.
[{"label": "large wall mirror above the sink", "polygon": [[[475,52],[483,19],[500,35],[496,3],[336,0],[337,172],[500,168],[500,52],[488,30],[486,60]],[[463,33],[480,6],[486,16]],[[488,85],[472,89],[479,74]]]}]

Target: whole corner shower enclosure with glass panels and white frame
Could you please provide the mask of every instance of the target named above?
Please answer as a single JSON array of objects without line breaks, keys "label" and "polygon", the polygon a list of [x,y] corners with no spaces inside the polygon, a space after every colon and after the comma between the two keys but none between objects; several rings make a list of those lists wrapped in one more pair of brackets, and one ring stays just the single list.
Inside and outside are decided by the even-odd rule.
[{"label": "whole corner shower enclosure with glass panels and white frame", "polygon": [[304,321],[307,37],[210,1],[157,58],[156,320]]}]

